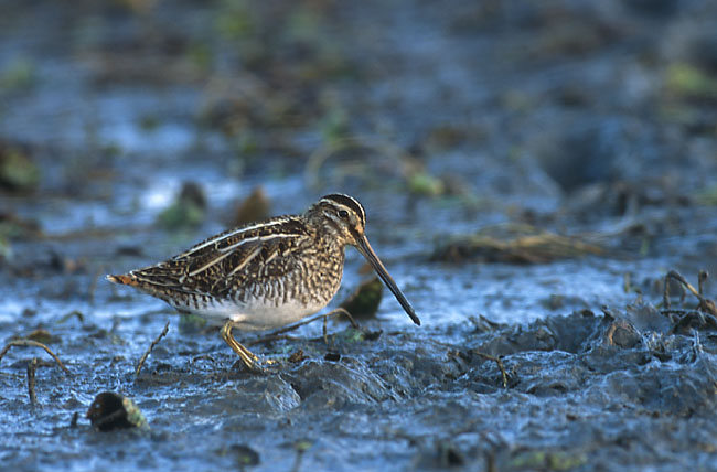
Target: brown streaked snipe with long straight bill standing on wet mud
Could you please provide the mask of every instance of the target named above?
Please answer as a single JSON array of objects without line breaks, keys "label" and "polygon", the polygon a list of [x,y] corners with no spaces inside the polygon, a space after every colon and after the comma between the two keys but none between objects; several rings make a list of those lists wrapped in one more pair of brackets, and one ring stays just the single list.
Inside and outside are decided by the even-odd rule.
[{"label": "brown streaked snipe with long straight bill standing on wet mud", "polygon": [[302,215],[231,229],[164,262],[107,279],[223,325],[222,339],[247,367],[259,369],[258,357],[236,342],[232,329],[279,328],[324,308],[341,285],[346,245],[363,254],[414,323],[420,324],[371,248],[365,227],[361,203],[349,195],[327,195]]}]

